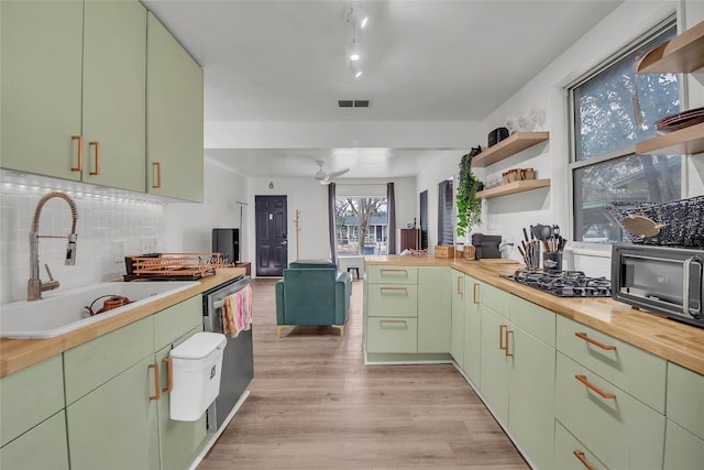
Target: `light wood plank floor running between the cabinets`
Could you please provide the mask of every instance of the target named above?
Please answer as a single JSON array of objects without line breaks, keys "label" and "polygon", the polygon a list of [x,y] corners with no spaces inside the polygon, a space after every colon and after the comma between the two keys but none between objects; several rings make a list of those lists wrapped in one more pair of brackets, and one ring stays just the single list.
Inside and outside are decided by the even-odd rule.
[{"label": "light wood plank floor running between the cabinets", "polygon": [[361,281],[342,340],[330,327],[277,340],[274,282],[252,282],[251,394],[200,470],[528,469],[452,365],[364,365]]}]

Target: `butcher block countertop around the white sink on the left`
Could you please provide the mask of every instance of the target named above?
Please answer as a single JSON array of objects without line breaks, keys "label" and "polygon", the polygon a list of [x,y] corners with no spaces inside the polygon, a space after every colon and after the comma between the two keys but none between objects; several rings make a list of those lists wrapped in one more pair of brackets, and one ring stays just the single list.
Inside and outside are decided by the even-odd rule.
[{"label": "butcher block countertop around the white sink on the left", "polygon": [[[199,285],[177,292],[148,305],[125,311],[122,315],[106,318],[92,325],[46,339],[0,339],[0,378],[35,364],[52,356],[61,354],[76,346],[88,342],[99,336],[114,331],[157,311],[176,305],[195,295],[199,295],[217,285],[244,274],[243,267],[217,270],[212,276],[205,277]],[[148,282],[148,281],[133,281]],[[42,302],[42,300],[36,300]]]}]

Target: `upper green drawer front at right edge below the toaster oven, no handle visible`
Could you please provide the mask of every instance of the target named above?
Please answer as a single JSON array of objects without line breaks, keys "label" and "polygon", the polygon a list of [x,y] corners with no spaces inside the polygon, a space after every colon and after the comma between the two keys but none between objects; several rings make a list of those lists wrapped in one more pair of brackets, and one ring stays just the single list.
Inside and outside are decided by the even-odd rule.
[{"label": "upper green drawer front at right edge below the toaster oven, no handle visible", "polygon": [[704,439],[704,375],[669,362],[667,409],[668,419]]}]

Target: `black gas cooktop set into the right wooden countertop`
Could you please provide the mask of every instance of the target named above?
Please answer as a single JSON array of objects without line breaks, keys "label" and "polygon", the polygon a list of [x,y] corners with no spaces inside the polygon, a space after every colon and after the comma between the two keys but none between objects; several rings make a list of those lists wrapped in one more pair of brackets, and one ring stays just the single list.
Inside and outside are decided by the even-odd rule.
[{"label": "black gas cooktop set into the right wooden countertop", "polygon": [[612,282],[605,277],[588,277],[582,271],[527,271],[502,275],[558,297],[610,297]]}]

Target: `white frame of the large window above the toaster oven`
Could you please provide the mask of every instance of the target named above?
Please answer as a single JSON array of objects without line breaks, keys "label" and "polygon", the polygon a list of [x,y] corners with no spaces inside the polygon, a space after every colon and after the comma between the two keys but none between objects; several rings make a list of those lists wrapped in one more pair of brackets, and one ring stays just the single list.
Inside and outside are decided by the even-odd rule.
[{"label": "white frame of the large window above the toaster oven", "polygon": [[[608,69],[609,67],[616,65],[618,62],[620,62],[622,59],[624,59],[625,57],[627,57],[629,54],[631,54],[634,51],[638,50],[640,46],[642,46],[645,43],[648,43],[649,41],[652,41],[653,39],[661,36],[666,33],[666,31],[670,30],[671,28],[674,28],[675,30],[675,34],[680,33],[680,23],[678,21],[678,15],[676,12],[672,12],[671,14],[669,14],[667,18],[662,19],[661,21],[654,23],[650,29],[648,29],[647,31],[645,31],[644,33],[641,33],[640,35],[638,35],[636,39],[631,40],[630,42],[626,43],[624,46],[619,47],[614,54],[609,55],[608,57],[606,57],[604,61],[600,62],[598,64],[596,64],[594,67],[590,68],[586,73],[584,73],[583,75],[581,75],[579,78],[576,78],[575,80],[572,80],[571,83],[569,83],[568,85],[564,86],[564,91],[565,91],[565,99],[566,99],[566,108],[568,108],[568,129],[569,129],[569,162],[568,162],[568,190],[569,190],[569,225],[570,225],[570,229],[569,229],[569,233],[570,233],[570,241],[572,243],[576,243],[578,247],[582,245],[584,248],[590,248],[590,249],[603,249],[605,250],[606,247],[608,248],[608,250],[610,251],[610,247],[612,247],[612,242],[607,242],[607,243],[595,243],[595,242],[587,242],[587,241],[576,241],[576,230],[574,227],[575,220],[576,220],[576,197],[574,194],[574,174],[580,168],[584,168],[587,166],[594,166],[594,165],[600,165],[600,164],[604,164],[607,162],[614,162],[618,159],[622,157],[627,157],[629,155],[635,155],[636,154],[636,143],[626,145],[622,149],[618,150],[614,150],[601,155],[595,155],[595,156],[591,156],[587,159],[584,159],[582,161],[578,161],[578,155],[576,155],[576,107],[575,107],[575,100],[574,100],[574,91],[578,87],[580,87],[581,85],[587,83],[588,80],[593,79],[594,77],[598,76],[601,73],[605,72],[606,69]],[[675,74],[678,75],[678,85],[679,85],[679,99],[680,99],[680,110],[682,109],[686,109],[688,108],[688,103],[686,103],[686,80],[683,79],[683,74]],[[684,163],[684,160],[683,160]],[[684,164],[682,164],[682,181],[684,182]],[[683,186],[684,187],[684,186]]]}]

